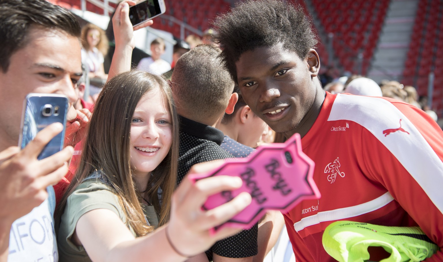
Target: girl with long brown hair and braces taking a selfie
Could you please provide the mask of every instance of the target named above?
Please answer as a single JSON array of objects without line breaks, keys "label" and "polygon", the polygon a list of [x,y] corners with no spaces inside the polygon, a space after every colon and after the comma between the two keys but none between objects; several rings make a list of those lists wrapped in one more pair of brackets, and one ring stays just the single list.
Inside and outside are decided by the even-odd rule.
[{"label": "girl with long brown hair and braces taking a selfie", "polygon": [[237,232],[212,236],[208,229],[248,204],[248,194],[228,203],[233,210],[201,210],[215,187],[241,184],[233,177],[216,181],[219,185],[185,181],[173,200],[178,126],[162,77],[132,71],[106,83],[89,121],[82,161],[60,202],[60,262],[184,261]]}]

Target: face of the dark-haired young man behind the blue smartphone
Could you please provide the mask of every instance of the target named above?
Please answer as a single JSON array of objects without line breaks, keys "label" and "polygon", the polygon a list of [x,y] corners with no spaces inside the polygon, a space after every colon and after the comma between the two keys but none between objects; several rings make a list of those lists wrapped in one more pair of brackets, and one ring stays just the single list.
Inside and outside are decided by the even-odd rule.
[{"label": "face of the dark-haired young man behind the blue smartphone", "polygon": [[40,27],[31,27],[27,38],[12,54],[8,71],[0,70],[0,137],[11,145],[18,143],[23,100],[30,92],[68,96],[68,124],[77,117],[72,104],[82,75],[79,39]]}]

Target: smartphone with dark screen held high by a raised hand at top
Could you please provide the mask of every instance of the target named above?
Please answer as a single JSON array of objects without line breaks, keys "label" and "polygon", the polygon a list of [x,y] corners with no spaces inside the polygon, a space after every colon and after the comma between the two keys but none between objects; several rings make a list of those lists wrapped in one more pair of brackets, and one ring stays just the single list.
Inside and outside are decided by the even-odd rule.
[{"label": "smartphone with dark screen held high by a raised hand at top", "polygon": [[129,8],[129,19],[135,27],[166,12],[164,0],[145,0]]}]

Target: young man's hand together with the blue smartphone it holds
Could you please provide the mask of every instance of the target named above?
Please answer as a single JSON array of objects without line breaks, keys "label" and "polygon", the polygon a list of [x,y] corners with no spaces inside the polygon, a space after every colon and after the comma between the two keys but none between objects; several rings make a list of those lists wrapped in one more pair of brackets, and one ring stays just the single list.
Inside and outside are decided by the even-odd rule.
[{"label": "young man's hand together with the blue smartphone it holds", "polygon": [[0,218],[5,223],[12,223],[41,204],[47,198],[47,186],[68,172],[67,162],[74,149],[63,148],[66,111],[66,96],[26,97],[19,147],[0,151]]}]

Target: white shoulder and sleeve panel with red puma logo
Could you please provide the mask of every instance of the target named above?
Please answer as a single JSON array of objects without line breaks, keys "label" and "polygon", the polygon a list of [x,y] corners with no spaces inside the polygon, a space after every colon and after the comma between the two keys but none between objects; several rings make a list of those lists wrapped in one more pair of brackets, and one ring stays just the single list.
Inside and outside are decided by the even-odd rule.
[{"label": "white shoulder and sleeve panel with red puma logo", "polygon": [[[403,131],[383,133],[400,127],[400,119],[401,127],[409,134]],[[393,104],[382,98],[339,94],[328,118],[328,121],[334,120],[353,121],[371,132],[443,213],[443,163],[420,131]]]}]

